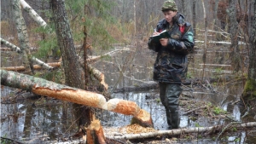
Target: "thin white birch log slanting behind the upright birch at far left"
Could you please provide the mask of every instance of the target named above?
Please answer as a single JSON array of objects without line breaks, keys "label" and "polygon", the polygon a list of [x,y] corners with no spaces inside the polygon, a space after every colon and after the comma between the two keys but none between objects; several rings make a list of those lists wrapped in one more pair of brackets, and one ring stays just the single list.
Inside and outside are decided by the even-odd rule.
[{"label": "thin white birch log slanting behind the upright birch at far left", "polygon": [[[19,53],[20,51],[20,48],[15,46],[15,44],[13,43],[9,43],[8,41],[4,40],[3,38],[0,38],[1,39],[1,43],[3,42],[4,44],[6,44],[6,46],[8,46],[9,48],[11,49],[16,49],[16,51]],[[29,48],[28,48],[29,49]],[[37,58],[35,58],[34,56],[31,56],[32,57],[32,61],[37,63],[39,66],[43,67],[44,69],[47,69],[47,70],[52,70],[53,67],[52,66],[49,66],[48,64],[44,63],[44,61],[42,60],[38,60]],[[32,67],[33,68],[33,67]],[[37,66],[38,68],[38,66]]]}]

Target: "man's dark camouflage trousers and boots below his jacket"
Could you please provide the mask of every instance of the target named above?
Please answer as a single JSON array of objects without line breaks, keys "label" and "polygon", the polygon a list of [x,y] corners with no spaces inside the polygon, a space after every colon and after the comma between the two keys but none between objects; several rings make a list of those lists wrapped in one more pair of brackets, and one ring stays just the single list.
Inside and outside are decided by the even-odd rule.
[{"label": "man's dark camouflage trousers and boots below his jacket", "polygon": [[180,84],[160,83],[160,100],[166,108],[166,119],[170,130],[179,126],[178,97],[182,91]]}]

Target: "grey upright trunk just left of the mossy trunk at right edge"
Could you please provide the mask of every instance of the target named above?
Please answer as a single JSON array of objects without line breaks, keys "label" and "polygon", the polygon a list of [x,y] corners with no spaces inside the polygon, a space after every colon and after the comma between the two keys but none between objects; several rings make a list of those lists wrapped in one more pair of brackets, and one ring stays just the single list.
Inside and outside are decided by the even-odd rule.
[{"label": "grey upright trunk just left of the mossy trunk at right edge", "polygon": [[230,30],[230,59],[232,61],[232,66],[234,67],[234,71],[238,72],[241,69],[241,58],[240,58],[240,50],[238,48],[238,23],[236,21],[236,1],[230,0],[229,3],[229,30]]}]

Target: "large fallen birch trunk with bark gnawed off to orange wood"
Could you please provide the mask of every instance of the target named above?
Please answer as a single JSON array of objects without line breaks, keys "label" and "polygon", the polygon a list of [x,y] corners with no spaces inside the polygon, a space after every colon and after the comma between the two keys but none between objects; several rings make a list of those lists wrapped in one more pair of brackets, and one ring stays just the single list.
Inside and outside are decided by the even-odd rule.
[{"label": "large fallen birch trunk with bark gnawed off to orange wood", "polygon": [[103,95],[77,89],[62,84],[55,84],[43,78],[35,78],[17,72],[0,70],[1,84],[32,91],[34,94],[54,97],[62,101],[70,101],[84,106],[131,115],[143,126],[153,127],[150,114],[137,106],[134,101],[111,99],[106,101]]}]

